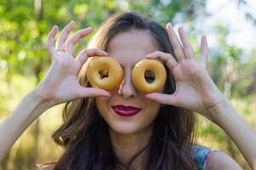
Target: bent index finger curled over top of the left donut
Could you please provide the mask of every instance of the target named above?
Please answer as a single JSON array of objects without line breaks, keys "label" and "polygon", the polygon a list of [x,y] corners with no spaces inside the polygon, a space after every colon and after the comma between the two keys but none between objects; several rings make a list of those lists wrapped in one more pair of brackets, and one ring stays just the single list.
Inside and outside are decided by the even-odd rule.
[{"label": "bent index finger curled over top of the left donut", "polygon": [[94,57],[94,56],[106,56],[108,55],[107,52],[103,51],[100,48],[89,48],[89,49],[83,49],[79,55],[76,57],[75,60],[79,61],[81,63],[81,65],[84,65],[85,61],[89,58],[89,57]]}]

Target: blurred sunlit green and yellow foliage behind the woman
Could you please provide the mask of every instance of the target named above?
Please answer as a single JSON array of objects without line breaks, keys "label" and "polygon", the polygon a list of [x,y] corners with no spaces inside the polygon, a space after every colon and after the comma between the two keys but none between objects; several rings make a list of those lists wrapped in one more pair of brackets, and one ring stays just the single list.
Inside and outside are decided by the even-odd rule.
[{"label": "blurred sunlit green and yellow foliage behind the woman", "polygon": [[[213,81],[256,129],[254,0],[1,0],[0,121],[48,71],[50,59],[45,46],[52,26],[62,29],[74,20],[76,31],[92,26],[95,33],[103,20],[123,11],[148,14],[162,26],[169,21],[175,28],[184,26],[196,54],[200,53],[201,36],[207,35],[207,68]],[[86,46],[92,35],[79,43],[77,51]],[[63,105],[57,105],[33,122],[9,151],[0,170],[36,169],[38,163],[55,161],[61,148],[53,142],[51,133],[61,124],[62,108]],[[197,141],[224,151],[249,169],[229,137],[201,116]]]}]

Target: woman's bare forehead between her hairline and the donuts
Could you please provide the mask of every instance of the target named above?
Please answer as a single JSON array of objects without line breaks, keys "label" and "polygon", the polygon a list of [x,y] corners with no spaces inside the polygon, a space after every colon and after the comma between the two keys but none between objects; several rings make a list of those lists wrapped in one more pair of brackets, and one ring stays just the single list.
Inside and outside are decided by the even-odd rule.
[{"label": "woman's bare forehead between her hairline and the donuts", "polygon": [[119,32],[108,43],[107,52],[120,65],[136,65],[147,54],[160,50],[158,42],[149,31],[132,29]]}]

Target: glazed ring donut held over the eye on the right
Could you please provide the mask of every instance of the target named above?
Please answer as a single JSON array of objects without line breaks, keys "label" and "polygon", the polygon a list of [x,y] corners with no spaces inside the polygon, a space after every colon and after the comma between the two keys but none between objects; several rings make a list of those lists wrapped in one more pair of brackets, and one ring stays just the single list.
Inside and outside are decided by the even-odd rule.
[{"label": "glazed ring donut held over the eye on the right", "polygon": [[[148,82],[145,78],[149,71],[149,77],[154,73],[154,81]],[[151,72],[151,76],[150,76]],[[132,82],[134,86],[144,93],[157,92],[166,82],[166,69],[160,61],[156,59],[143,59],[132,69]]]}]

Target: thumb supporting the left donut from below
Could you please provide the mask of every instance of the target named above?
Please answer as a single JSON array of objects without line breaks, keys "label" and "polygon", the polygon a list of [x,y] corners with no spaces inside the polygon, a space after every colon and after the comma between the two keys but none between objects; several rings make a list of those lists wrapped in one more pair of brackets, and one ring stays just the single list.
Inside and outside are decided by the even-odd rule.
[{"label": "thumb supporting the left donut from below", "polygon": [[109,97],[110,94],[108,91],[100,89],[100,88],[79,88],[77,91],[77,97],[84,98],[84,97],[97,97],[97,96],[103,96],[103,97]]}]

